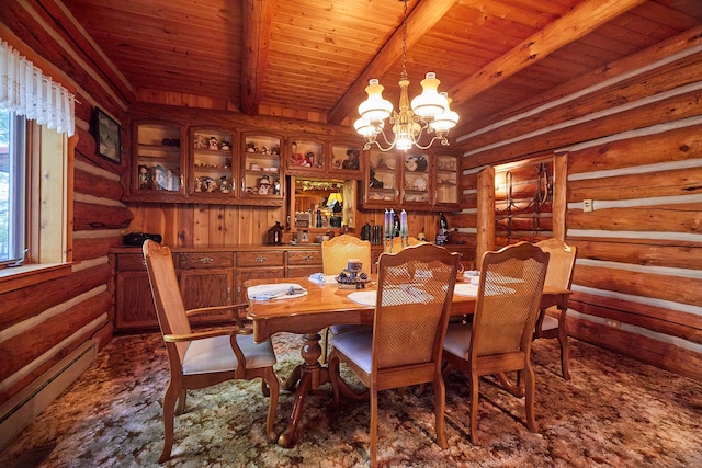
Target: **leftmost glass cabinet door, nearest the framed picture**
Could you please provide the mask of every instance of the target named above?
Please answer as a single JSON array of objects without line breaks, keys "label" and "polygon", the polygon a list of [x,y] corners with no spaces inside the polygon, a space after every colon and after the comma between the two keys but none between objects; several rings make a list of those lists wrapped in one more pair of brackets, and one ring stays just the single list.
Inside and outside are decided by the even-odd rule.
[{"label": "leftmost glass cabinet door, nearest the framed picture", "polygon": [[134,127],[136,163],[134,195],[184,194],[182,127],[166,123],[137,123]]}]

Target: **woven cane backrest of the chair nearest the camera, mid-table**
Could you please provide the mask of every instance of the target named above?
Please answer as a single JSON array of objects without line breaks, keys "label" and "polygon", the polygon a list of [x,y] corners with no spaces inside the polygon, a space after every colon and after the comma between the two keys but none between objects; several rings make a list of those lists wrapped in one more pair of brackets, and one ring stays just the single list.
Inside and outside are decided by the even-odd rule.
[{"label": "woven cane backrest of the chair nearest the camera, mid-table", "polygon": [[440,365],[461,255],[431,243],[383,253],[373,324],[373,373]]}]

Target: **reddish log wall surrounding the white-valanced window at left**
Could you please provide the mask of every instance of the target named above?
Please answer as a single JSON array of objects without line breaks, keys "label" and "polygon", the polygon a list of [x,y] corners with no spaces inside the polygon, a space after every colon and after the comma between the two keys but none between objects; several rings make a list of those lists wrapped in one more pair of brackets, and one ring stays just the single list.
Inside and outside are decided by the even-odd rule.
[{"label": "reddish log wall surrounding the white-valanced window at left", "polygon": [[53,1],[0,2],[0,37],[77,98],[68,207],[73,214],[68,260],[75,263],[67,276],[14,289],[10,285],[12,290],[0,295],[0,404],[88,340],[103,345],[112,336],[114,278],[107,251],[120,244],[121,228],[132,214],[120,202],[123,169],[97,156],[90,121],[99,106],[125,123],[124,96],[131,91],[77,33]]}]

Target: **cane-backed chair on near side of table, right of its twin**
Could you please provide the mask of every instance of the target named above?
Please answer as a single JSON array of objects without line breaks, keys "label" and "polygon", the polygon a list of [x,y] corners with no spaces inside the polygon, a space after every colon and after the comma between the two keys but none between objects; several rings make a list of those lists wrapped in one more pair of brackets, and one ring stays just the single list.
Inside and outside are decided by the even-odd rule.
[{"label": "cane-backed chair on near side of table, right of its twin", "polygon": [[[528,242],[486,252],[473,321],[449,326],[444,373],[455,367],[468,376],[473,444],[477,444],[478,383],[484,375],[495,374],[501,387],[517,397],[525,395],[526,425],[537,431],[531,344],[547,264],[548,253]],[[514,370],[524,375],[523,383],[508,381],[505,373]]]}]

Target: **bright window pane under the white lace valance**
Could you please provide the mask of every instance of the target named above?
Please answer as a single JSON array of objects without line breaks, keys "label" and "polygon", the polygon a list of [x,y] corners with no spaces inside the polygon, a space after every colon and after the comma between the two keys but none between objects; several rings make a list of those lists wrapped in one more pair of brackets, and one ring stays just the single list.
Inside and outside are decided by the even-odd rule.
[{"label": "bright window pane under the white lace valance", "polygon": [[23,117],[0,110],[0,263],[24,256],[25,126]]}]

